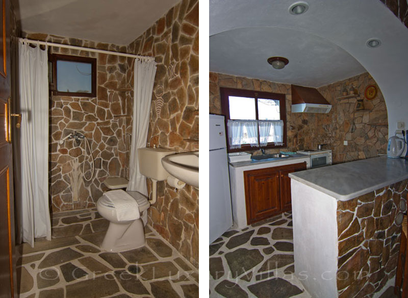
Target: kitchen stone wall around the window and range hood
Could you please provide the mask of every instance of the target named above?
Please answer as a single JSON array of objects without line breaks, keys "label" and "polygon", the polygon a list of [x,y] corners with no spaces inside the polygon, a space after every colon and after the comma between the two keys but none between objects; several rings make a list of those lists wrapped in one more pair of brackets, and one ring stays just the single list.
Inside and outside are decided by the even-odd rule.
[{"label": "kitchen stone wall around the window and range hood", "polygon": [[[220,87],[281,93],[286,96],[288,147],[269,149],[268,152],[296,151],[317,148],[318,144],[328,144],[327,148],[333,150],[335,164],[386,153],[387,107],[378,86],[377,96],[371,101],[364,100],[365,110],[356,111],[357,98],[338,98],[341,97],[344,84],[357,87],[361,98],[364,98],[364,90],[368,85],[376,86],[368,73],[323,86],[318,90],[332,105],[328,114],[292,114],[289,84],[210,72],[210,113],[221,114]],[[348,141],[347,146],[343,145],[345,140]]]}]

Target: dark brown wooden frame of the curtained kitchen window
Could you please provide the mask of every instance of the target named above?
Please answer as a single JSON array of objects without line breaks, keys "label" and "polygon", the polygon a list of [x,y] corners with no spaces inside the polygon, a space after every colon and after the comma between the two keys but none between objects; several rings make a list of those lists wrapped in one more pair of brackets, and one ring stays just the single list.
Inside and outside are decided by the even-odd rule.
[{"label": "dark brown wooden frame of the curtained kitchen window", "polygon": [[[263,146],[263,147],[251,147],[251,145],[241,145],[241,148],[230,149],[230,143],[228,142],[228,129],[226,129],[225,133],[226,133],[226,138],[227,138],[227,151],[228,152],[259,150],[261,148],[271,149],[271,148],[287,147],[286,96],[285,94],[220,87],[220,95],[221,95],[221,112],[222,112],[222,115],[225,116],[225,125],[226,125],[227,120],[230,120],[230,102],[228,100],[228,97],[230,96],[255,98],[255,115],[256,115],[257,120],[258,120],[258,98],[279,100],[279,114],[281,116],[281,120],[283,120],[284,122],[283,145],[281,146],[277,146],[275,145],[275,143],[268,143],[266,146]],[[259,133],[258,133],[258,139],[259,139]]]}]

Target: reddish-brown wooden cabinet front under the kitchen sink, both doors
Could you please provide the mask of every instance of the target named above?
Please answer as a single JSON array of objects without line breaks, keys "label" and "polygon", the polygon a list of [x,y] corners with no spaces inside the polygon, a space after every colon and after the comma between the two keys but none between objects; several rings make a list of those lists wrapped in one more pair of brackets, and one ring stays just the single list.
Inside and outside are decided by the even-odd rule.
[{"label": "reddish-brown wooden cabinet front under the kitchen sink, both doors", "polygon": [[244,172],[247,224],[291,210],[289,173],[306,170],[306,162]]}]

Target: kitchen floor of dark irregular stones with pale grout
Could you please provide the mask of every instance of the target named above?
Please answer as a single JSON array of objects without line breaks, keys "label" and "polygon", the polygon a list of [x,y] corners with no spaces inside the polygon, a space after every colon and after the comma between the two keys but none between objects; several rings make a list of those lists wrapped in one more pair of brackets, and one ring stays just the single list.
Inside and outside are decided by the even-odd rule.
[{"label": "kitchen floor of dark irregular stones with pale grout", "polygon": [[[210,297],[312,298],[294,275],[291,213],[233,227],[210,245]],[[390,287],[380,298],[394,297]]]}]

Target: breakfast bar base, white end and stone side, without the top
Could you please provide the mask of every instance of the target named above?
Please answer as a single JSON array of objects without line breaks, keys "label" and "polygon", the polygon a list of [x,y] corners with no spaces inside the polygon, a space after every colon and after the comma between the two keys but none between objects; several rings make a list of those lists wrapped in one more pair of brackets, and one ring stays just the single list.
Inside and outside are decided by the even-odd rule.
[{"label": "breakfast bar base, white end and stone side, without the top", "polygon": [[295,274],[315,298],[378,297],[396,273],[408,180],[348,201],[292,179]]}]

